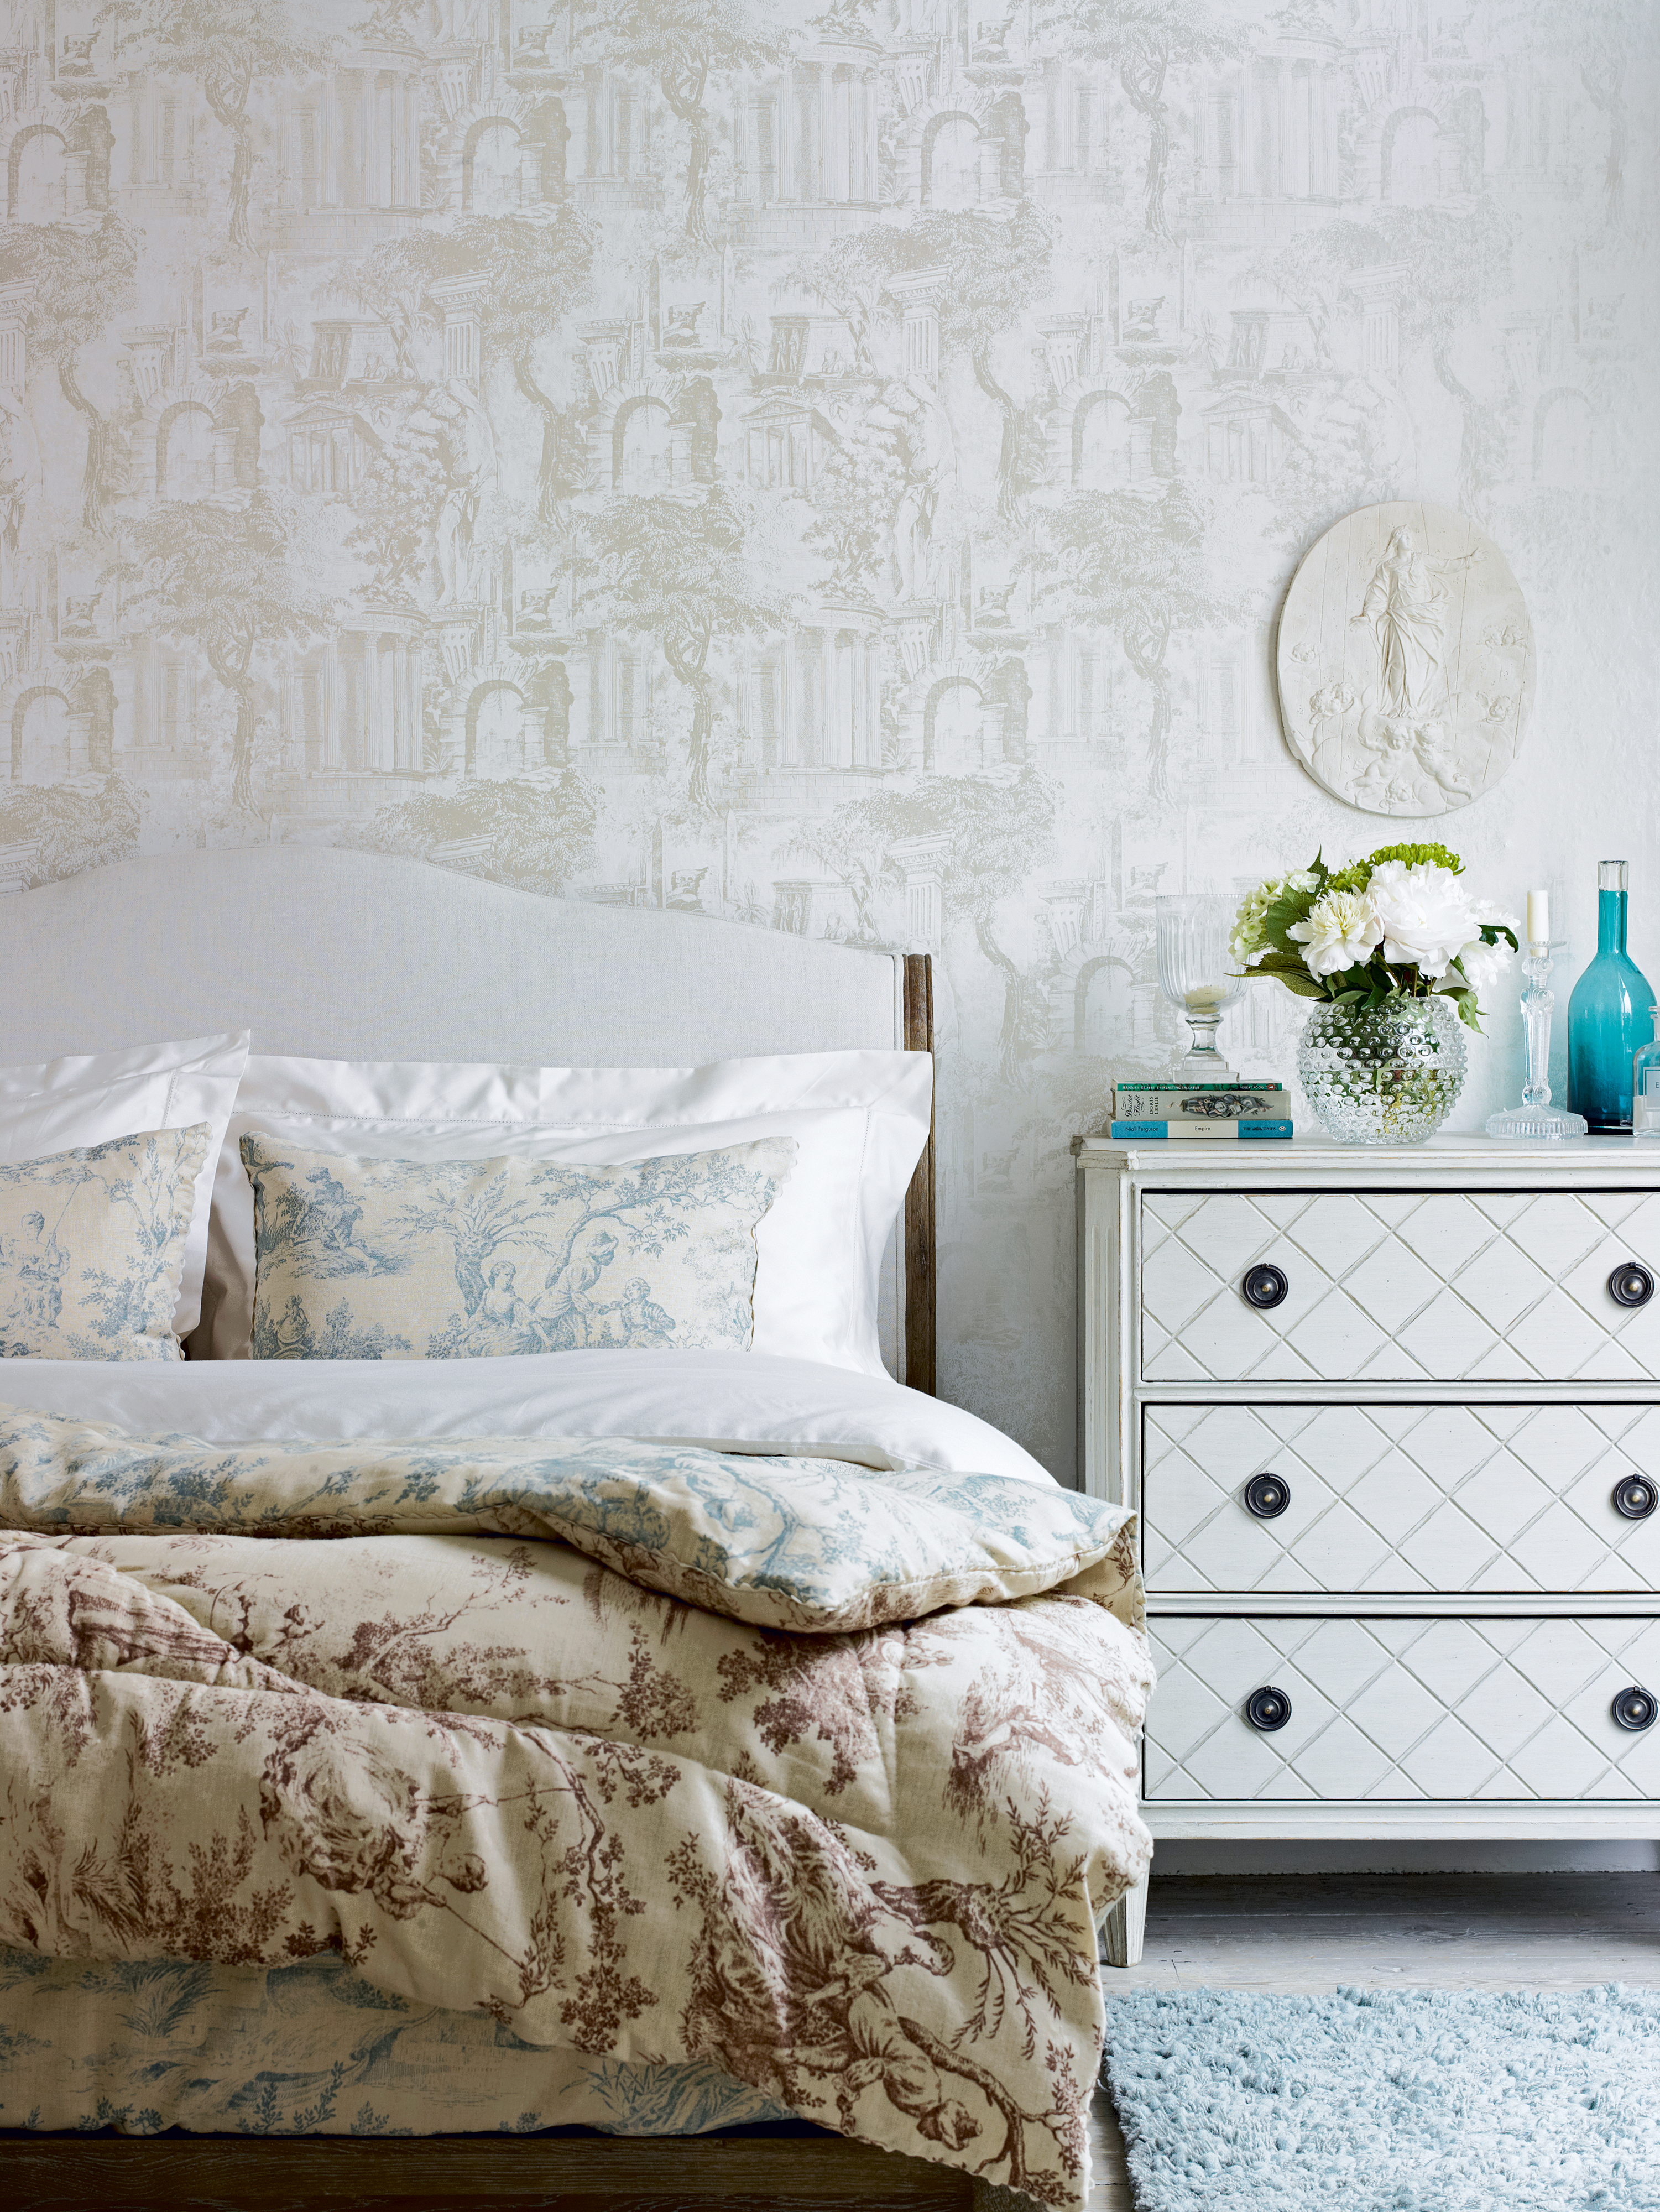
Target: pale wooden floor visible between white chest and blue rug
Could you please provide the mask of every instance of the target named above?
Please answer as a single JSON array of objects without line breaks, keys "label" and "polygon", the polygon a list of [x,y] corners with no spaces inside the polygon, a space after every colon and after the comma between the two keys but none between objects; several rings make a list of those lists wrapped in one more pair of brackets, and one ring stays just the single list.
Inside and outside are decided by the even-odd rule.
[{"label": "pale wooden floor visible between white chest and blue rug", "polygon": [[[1124,1989],[1591,1989],[1660,1984],[1656,1874],[1295,1876],[1153,1882]],[[1133,2212],[1124,2143],[1096,2095],[1091,2212]]]}]

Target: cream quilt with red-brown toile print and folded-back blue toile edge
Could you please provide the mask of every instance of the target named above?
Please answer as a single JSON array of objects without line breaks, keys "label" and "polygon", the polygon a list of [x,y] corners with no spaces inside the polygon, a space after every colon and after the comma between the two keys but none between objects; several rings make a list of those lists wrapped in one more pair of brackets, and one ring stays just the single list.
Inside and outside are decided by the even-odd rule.
[{"label": "cream quilt with red-brown toile print and folded-back blue toile edge", "polygon": [[0,1409],[0,1944],[339,1953],[1080,2208],[1140,1621],[1000,1478]]}]

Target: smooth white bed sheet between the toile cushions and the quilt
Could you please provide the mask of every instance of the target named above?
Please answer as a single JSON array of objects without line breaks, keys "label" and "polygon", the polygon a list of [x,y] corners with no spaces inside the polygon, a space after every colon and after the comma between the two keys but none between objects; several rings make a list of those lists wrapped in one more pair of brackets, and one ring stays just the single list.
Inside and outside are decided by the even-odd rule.
[{"label": "smooth white bed sheet between the toile cushions and the quilt", "polygon": [[989,1422],[890,1376],[759,1352],[500,1360],[7,1360],[0,1402],[208,1442],[646,1436],[865,1467],[1051,1475]]}]

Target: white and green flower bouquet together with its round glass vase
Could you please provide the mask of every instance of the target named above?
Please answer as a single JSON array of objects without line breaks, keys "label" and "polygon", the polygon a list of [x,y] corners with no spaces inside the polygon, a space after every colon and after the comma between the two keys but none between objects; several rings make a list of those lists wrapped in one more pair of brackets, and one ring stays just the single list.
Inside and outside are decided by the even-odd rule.
[{"label": "white and green flower bouquet together with its round glass vase", "polygon": [[1346,1144],[1419,1144],[1463,1088],[1459,1022],[1481,1029],[1476,993],[1503,973],[1516,929],[1461,876],[1445,845],[1386,845],[1339,869],[1317,854],[1251,891],[1235,916],[1246,975],[1321,1000],[1297,1075]]}]

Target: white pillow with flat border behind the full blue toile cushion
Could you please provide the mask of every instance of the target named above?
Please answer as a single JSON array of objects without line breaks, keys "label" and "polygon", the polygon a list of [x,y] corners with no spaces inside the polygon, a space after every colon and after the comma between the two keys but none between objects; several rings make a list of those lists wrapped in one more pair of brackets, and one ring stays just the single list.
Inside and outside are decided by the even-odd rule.
[{"label": "white pillow with flat border behind the full blue toile cushion", "polygon": [[255,1201],[243,1130],[374,1159],[587,1164],[792,1137],[757,1230],[755,1338],[777,1358],[883,1374],[881,1259],[927,1141],[927,1053],[781,1053],[706,1068],[496,1068],[252,1053],[219,1152],[195,1358],[250,1358]]}]

